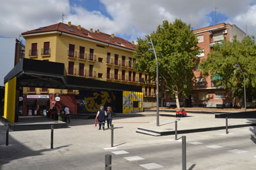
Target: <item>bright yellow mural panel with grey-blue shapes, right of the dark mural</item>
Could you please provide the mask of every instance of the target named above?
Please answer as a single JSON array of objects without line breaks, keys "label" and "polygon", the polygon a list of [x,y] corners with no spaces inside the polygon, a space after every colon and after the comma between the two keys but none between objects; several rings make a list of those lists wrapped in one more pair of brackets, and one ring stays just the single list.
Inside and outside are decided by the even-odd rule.
[{"label": "bright yellow mural panel with grey-blue shapes, right of the dark mural", "polygon": [[[138,107],[135,108],[135,104]],[[142,92],[123,92],[123,113],[134,113],[143,111],[143,93]]]}]

